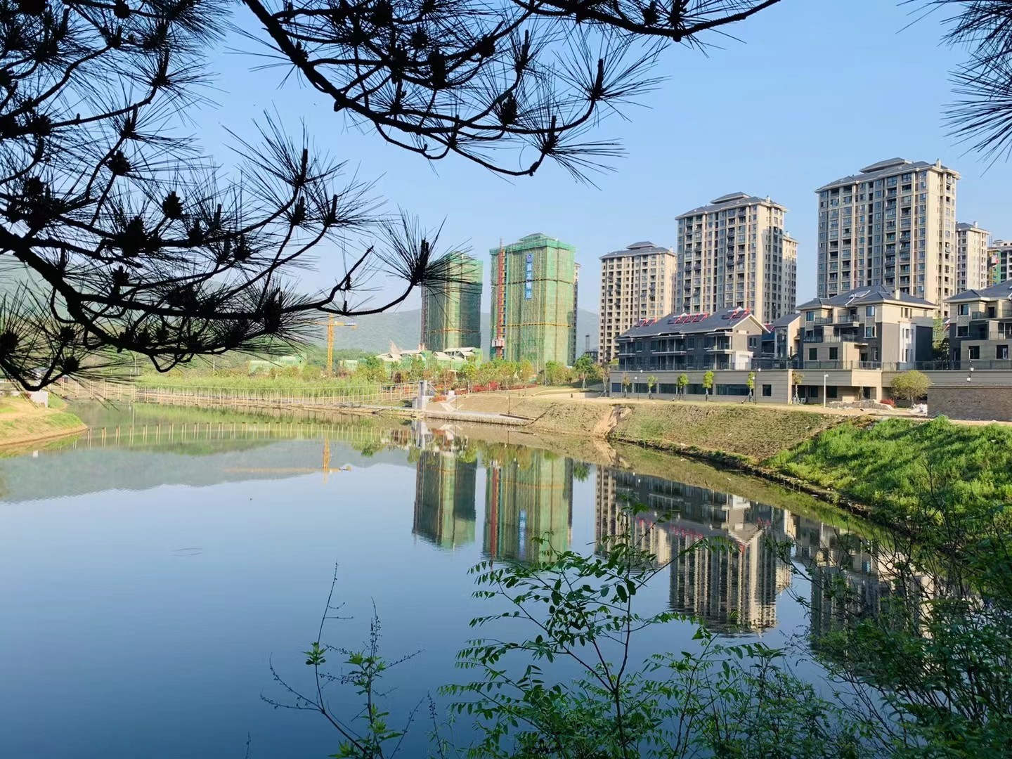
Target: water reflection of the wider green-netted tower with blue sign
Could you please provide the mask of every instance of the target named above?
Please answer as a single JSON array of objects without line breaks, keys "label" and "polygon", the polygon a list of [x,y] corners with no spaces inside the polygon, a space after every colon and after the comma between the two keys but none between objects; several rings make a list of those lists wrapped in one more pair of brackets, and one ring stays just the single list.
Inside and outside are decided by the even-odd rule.
[{"label": "water reflection of the wider green-netted tower with blue sign", "polygon": [[523,461],[489,466],[485,485],[485,553],[536,562],[547,539],[566,551],[573,525],[573,460],[526,450]]}]

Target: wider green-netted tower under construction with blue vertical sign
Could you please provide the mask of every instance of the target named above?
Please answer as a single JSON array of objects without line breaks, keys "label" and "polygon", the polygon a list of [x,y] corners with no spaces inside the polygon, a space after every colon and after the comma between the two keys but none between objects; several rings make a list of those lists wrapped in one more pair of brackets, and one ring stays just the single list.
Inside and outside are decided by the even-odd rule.
[{"label": "wider green-netted tower under construction with blue vertical sign", "polygon": [[576,360],[576,248],[554,237],[527,235],[492,253],[493,358]]}]

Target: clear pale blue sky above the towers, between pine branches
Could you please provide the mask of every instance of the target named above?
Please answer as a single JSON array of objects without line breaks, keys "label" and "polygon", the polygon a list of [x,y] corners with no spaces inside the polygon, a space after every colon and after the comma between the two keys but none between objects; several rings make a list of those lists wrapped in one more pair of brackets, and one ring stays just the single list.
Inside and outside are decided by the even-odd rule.
[{"label": "clear pale blue sky above the towers, between pine branches", "polygon": [[[783,0],[735,26],[741,41],[713,35],[718,47],[707,55],[666,51],[657,70],[666,81],[627,111],[630,120],[600,128],[599,137],[620,140],[626,156],[615,172],[596,177],[596,187],[550,165],[511,181],[463,159],[430,165],[346,129],[314,90],[294,78],[282,85],[285,70],[252,71],[256,61],[227,53],[228,45],[213,58],[217,107],[196,115],[197,136],[226,159],[226,126],[249,135],[264,109],[276,109],[289,130],[303,119],[317,147],[376,180],[388,209],[403,206],[427,226],[445,220],[445,243],[470,246],[486,260],[500,238],[543,232],[575,244],[584,267],[581,306],[592,311],[601,254],[638,240],[674,246],[675,217],[727,192],[770,195],[787,206],[787,228],[799,242],[800,303],[815,294],[813,190],[886,158],[941,159],[962,174],[959,221],[1012,235],[1009,165],[988,168],[942,122],[948,72],[962,53],[939,47],[942,14],[910,25],[915,10],[896,0]],[[246,21],[248,11],[238,13]],[[246,39],[231,44],[253,49]],[[317,258],[315,286],[336,275],[331,255]],[[413,298],[402,308],[416,306]],[[483,306],[488,311],[487,299]]]}]

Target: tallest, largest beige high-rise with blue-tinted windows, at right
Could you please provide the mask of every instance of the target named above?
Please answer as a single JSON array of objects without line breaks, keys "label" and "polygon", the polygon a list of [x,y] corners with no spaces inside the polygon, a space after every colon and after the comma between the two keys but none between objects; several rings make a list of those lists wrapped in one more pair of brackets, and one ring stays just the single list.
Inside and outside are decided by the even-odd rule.
[{"label": "tallest, largest beige high-rise with blue-tinted windows, at right", "polygon": [[958,286],[958,180],[941,161],[893,158],[816,190],[819,298],[881,284],[947,310]]}]

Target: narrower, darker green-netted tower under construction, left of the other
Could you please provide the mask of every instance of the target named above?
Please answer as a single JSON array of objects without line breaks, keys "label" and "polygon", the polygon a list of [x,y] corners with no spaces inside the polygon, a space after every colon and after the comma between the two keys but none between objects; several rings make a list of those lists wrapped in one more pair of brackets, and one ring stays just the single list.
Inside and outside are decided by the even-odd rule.
[{"label": "narrower, darker green-netted tower under construction, left of the other", "polygon": [[422,347],[444,351],[482,346],[482,263],[467,253],[447,255],[442,281],[422,291]]}]

